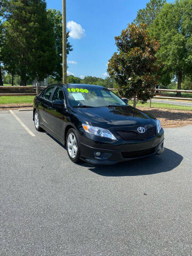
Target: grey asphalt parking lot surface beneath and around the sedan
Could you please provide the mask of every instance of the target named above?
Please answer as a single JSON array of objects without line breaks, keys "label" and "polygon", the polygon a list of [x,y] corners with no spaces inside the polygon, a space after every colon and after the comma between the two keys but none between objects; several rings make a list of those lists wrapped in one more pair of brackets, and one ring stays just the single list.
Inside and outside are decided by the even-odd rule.
[{"label": "grey asphalt parking lot surface beneath and around the sedan", "polygon": [[13,113],[0,111],[1,256],[192,255],[192,125],[165,129],[161,156],[94,167]]}]

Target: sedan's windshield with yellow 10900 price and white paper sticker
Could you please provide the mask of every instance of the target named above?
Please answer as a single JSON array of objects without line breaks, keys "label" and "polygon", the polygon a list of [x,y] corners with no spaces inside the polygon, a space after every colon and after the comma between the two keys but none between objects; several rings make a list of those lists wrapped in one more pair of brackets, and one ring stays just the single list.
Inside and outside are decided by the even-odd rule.
[{"label": "sedan's windshield with yellow 10900 price and white paper sticker", "polygon": [[67,89],[70,105],[73,107],[124,106],[126,103],[108,89],[95,86],[69,87]]}]

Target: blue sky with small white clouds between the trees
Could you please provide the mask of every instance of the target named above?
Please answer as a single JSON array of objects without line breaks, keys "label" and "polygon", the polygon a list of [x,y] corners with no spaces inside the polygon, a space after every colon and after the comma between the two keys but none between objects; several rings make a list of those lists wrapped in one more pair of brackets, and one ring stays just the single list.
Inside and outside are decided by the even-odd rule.
[{"label": "blue sky with small white clouds between the trees", "polygon": [[[149,0],[67,0],[69,41],[74,48],[68,56],[68,61],[73,62],[68,62],[68,71],[78,77],[104,78],[107,62],[116,51],[114,37],[121,34],[147,2]],[[62,10],[62,0],[47,0],[47,8]]]}]

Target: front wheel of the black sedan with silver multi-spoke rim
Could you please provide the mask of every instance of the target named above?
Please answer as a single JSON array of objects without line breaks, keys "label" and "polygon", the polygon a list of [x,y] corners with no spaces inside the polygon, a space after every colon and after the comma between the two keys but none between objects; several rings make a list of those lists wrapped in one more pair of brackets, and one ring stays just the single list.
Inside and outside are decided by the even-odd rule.
[{"label": "front wheel of the black sedan with silver multi-spoke rim", "polygon": [[74,163],[80,163],[81,159],[80,156],[80,144],[78,140],[78,135],[75,129],[71,128],[67,132],[66,137],[66,148],[67,148],[67,154],[70,158],[70,160]]}]

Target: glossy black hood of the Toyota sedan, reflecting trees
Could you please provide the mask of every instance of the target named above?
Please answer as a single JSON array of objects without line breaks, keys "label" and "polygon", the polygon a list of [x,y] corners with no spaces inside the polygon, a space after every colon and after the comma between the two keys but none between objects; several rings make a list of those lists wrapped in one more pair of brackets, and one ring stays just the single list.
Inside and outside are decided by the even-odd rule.
[{"label": "glossy black hood of the Toyota sedan, reflecting trees", "polygon": [[[155,117],[131,106],[76,108],[86,122],[103,126],[133,126],[155,124]],[[103,127],[102,126],[102,127]]]}]

